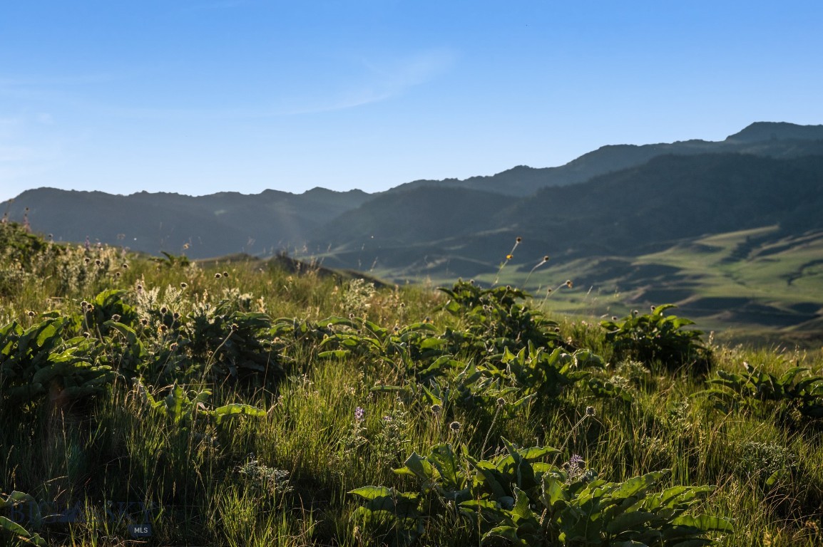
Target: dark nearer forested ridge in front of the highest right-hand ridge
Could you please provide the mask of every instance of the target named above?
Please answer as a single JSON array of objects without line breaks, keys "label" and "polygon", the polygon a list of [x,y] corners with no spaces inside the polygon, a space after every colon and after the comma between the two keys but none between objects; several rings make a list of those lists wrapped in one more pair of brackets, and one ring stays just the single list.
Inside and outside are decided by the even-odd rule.
[{"label": "dark nearer forested ridge in front of the highest right-hand ridge", "polygon": [[331,242],[335,264],[349,268],[470,277],[494,269],[515,237],[536,255],[630,256],[704,234],[823,228],[819,210],[823,156],[665,155],[520,199],[425,186],[387,193],[316,232],[314,249]]}]

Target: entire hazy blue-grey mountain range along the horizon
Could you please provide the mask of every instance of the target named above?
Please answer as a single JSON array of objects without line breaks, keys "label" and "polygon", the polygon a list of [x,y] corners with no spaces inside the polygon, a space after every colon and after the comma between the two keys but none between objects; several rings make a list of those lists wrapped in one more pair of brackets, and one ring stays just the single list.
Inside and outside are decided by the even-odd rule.
[{"label": "entire hazy blue-grey mountain range along the horizon", "polygon": [[[55,241],[89,237],[190,258],[286,251],[396,281],[494,274],[515,237],[523,237],[523,262],[511,264],[512,274],[543,255],[625,266],[712,234],[774,227],[760,241],[765,245],[823,232],[823,126],[758,122],[719,142],[604,146],[556,168],[518,166],[376,194],[315,188],[192,197],[40,188],[4,205],[17,221],[26,207],[31,227]],[[640,283],[622,274],[608,279],[618,278],[622,290]]]}]

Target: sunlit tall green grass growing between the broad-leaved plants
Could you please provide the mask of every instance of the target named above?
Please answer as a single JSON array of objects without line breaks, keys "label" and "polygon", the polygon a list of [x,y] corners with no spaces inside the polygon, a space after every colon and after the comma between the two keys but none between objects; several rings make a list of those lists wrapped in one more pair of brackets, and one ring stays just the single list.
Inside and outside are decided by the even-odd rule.
[{"label": "sunlit tall green grass growing between the broad-leaved plants", "polygon": [[[156,289],[160,301],[151,306],[174,293],[185,314],[198,303],[213,306],[228,298],[242,312],[314,322],[318,335],[268,341],[284,370],[277,380],[244,384],[231,377],[217,381],[202,369],[191,376],[180,372],[174,381],[186,390],[212,391],[180,421],[152,411],[143,395],[160,401],[172,382],[145,377],[138,384],[119,376],[102,393],[63,406],[48,394],[21,403],[0,397],[0,492],[26,492],[48,509],[44,513],[78,509],[62,520],[7,513],[50,545],[125,545],[133,539],[128,524],[146,519],[151,545],[379,545],[381,538],[352,518],[359,503],[347,492],[364,485],[411,488],[412,481],[393,469],[412,452],[451,443],[489,457],[503,448],[503,438],[561,448],[556,463],[578,455],[608,480],[667,468],[670,485],[716,485],[701,510],[732,517],[736,530],[720,545],[823,545],[821,419],[770,402],[724,413],[704,396],[706,379],[742,361],[775,373],[802,365],[820,374],[819,352],[714,347],[705,374],[659,362],[612,361],[597,375],[625,388],[630,402],[595,397],[578,383],[555,398],[532,398],[510,414],[458,402],[440,406],[425,398],[400,354],[320,358],[328,342],[318,323],[352,314],[386,329],[425,323],[439,333],[462,332],[465,319],[443,310],[446,297],[439,292],[364,290],[367,283],[321,277],[312,269],[290,273],[258,261],[185,266],[109,248],[51,253],[49,261],[18,260],[18,277],[5,274],[16,283],[0,305],[6,321],[25,326],[46,312],[77,315],[80,301],[109,288],[123,289],[138,306],[140,285],[143,292]],[[86,257],[108,264],[105,272],[88,272]],[[569,347],[612,359],[596,320],[551,319]],[[149,353],[168,347],[169,341],[151,337],[143,340]],[[223,347],[212,349],[194,365],[225,355]],[[265,416],[218,422],[207,414],[232,403],[257,407]],[[766,484],[775,470],[785,472]],[[472,526],[445,514],[425,526],[420,545],[478,540]],[[0,540],[23,541],[2,531]]]}]

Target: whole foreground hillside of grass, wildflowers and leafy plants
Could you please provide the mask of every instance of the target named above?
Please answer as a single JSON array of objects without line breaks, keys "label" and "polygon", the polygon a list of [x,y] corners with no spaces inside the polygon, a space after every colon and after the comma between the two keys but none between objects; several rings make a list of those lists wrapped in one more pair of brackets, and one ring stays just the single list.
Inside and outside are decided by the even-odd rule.
[{"label": "whole foreground hillside of grass, wildflowers and leafy plants", "polygon": [[669,306],[0,243],[0,542],[823,544],[819,352]]}]

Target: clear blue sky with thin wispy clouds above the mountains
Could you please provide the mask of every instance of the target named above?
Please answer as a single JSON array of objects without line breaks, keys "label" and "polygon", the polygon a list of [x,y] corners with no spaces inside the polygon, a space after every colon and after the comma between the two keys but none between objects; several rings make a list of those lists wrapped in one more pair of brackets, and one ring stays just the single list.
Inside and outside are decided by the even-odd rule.
[{"label": "clear blue sky with thin wispy clouds above the mountains", "polygon": [[823,123],[820,0],[0,6],[0,200],[381,191]]}]

